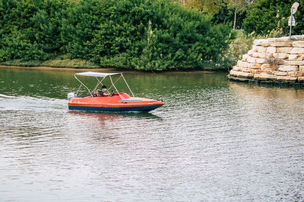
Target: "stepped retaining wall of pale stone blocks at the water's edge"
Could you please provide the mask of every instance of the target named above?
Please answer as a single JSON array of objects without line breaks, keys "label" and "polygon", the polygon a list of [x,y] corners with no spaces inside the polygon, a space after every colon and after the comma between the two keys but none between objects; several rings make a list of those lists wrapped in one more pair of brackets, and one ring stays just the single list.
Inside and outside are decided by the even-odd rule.
[{"label": "stepped retaining wall of pale stone blocks at the water's edge", "polygon": [[[304,86],[304,35],[254,40],[229,80]],[[296,84],[298,83],[298,84]]]}]

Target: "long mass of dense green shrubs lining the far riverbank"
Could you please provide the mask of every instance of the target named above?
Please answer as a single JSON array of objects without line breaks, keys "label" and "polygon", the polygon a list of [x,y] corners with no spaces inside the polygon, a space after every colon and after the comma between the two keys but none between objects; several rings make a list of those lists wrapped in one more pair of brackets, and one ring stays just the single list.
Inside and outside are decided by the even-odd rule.
[{"label": "long mass of dense green shrubs lining the far riverbank", "polygon": [[0,1],[0,62],[50,55],[104,67],[202,67],[226,47],[231,25],[168,0]]}]

